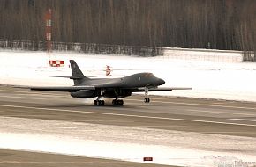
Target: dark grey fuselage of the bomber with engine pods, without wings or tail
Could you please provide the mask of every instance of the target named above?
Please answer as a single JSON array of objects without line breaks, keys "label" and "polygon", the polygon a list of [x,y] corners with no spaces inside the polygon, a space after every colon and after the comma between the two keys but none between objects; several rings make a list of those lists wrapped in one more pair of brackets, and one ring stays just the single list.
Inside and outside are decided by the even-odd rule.
[{"label": "dark grey fuselage of the bomber with engine pods, without wings or tail", "polygon": [[121,78],[92,78],[82,81],[79,85],[94,86],[95,90],[71,92],[73,98],[125,98],[132,95],[132,89],[157,87],[165,82],[152,73],[138,73]]}]

